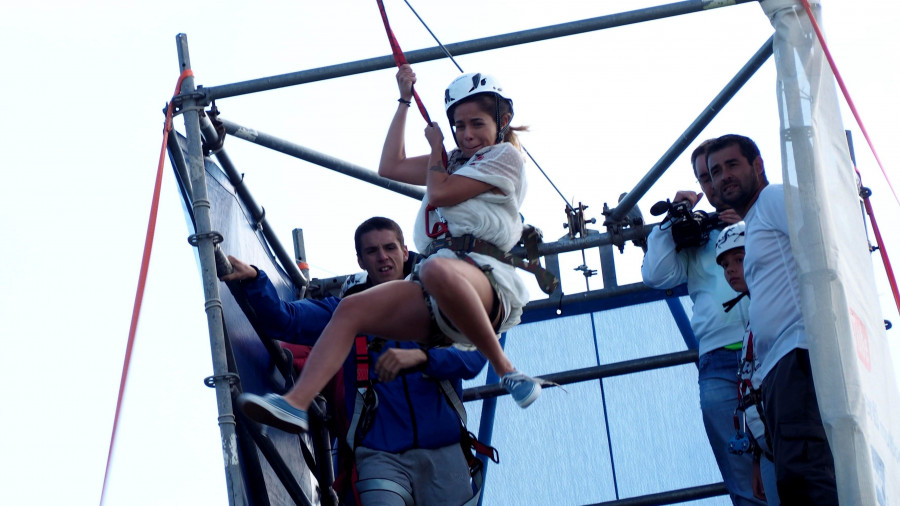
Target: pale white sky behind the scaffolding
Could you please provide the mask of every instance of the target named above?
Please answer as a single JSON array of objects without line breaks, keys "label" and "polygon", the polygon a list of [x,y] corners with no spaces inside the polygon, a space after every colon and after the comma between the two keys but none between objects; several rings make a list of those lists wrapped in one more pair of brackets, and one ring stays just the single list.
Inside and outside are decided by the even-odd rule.
[{"label": "pale white sky behind the scaffolding", "polygon": [[[628,2],[629,9],[662,2]],[[900,7],[825,1],[838,68],[887,175],[900,186]],[[401,46],[434,45],[403,2],[387,0]],[[622,2],[459,0],[413,5],[444,43],[621,12]],[[552,5],[552,7],[548,7]],[[559,189],[529,165],[526,220],[565,234],[563,200],[589,206],[631,190],[769,37],[755,3],[457,58],[496,75],[514,97],[514,124]],[[215,86],[388,54],[375,2],[5,2],[0,6],[0,503],[99,504],[119,380],[159,157],[162,109],[186,33],[196,83]],[[448,60],[414,67],[442,121]],[[396,108],[392,70],[220,101],[222,116],[374,169]],[[770,60],[699,136],[754,138],[779,182],[779,125]],[[863,183],[897,257],[900,204],[842,102]],[[441,126],[446,130],[446,122]],[[183,130],[180,118],[176,127]],[[424,153],[410,115],[408,150]],[[448,148],[452,142],[448,140]],[[374,214],[411,233],[417,203],[239,139],[226,149],[275,232],[302,227],[315,277],[356,269],[352,232]],[[682,155],[641,199],[647,210],[694,189]],[[564,198],[563,198],[564,197]],[[702,204],[701,204],[702,205]],[[649,216],[647,216],[649,219]],[[603,229],[597,225],[597,229]],[[227,502],[203,293],[168,164],[106,504]],[[874,241],[874,239],[872,239]],[[595,257],[596,255],[594,255]],[[564,257],[564,288],[583,288]],[[619,282],[639,280],[633,246],[616,254]],[[588,256],[592,269],[596,258]],[[884,316],[900,323],[874,263]],[[596,278],[595,278],[596,279]],[[599,281],[591,280],[596,288]],[[579,288],[579,286],[581,288]],[[888,332],[900,365],[897,330]]]}]

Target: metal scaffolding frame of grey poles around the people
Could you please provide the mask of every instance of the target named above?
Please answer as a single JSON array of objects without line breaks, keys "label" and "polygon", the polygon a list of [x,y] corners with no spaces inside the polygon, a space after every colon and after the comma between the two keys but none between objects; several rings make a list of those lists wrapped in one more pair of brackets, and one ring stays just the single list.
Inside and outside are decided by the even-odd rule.
[{"label": "metal scaffolding frame of grey poles around the people", "polygon": [[[446,49],[454,55],[462,55],[509,47],[529,42],[541,40],[549,40],[568,35],[586,33],[590,31],[602,30],[618,26],[624,26],[643,21],[662,19],[682,14],[710,10],[719,7],[726,7],[747,3],[756,0],[687,0],[676,2],[668,5],[650,7],[634,11],[623,12],[608,16],[601,16],[581,21],[552,25],[532,30],[497,35],[475,39],[455,44],[447,44]],[[188,54],[187,36],[179,34],[176,38],[178,47],[179,66],[181,71],[190,69],[190,58]],[[632,210],[636,202],[649,190],[653,183],[661,177],[668,169],[672,162],[690,145],[697,135],[709,124],[718,111],[737,93],[737,91],[750,79],[750,77],[758,70],[762,64],[772,54],[772,39],[766,41],[747,64],[734,76],[734,78],[723,88],[723,90],[710,102],[710,104],[701,112],[693,123],[679,136],[672,146],[663,154],[659,161],[650,169],[647,175],[628,192],[618,206],[614,209],[605,209],[604,215],[606,220],[603,223],[607,227],[607,233],[589,233],[580,237],[571,235],[564,237],[558,241],[545,243],[540,246],[539,253],[545,257],[545,263],[551,270],[555,267],[555,272],[559,273],[559,264],[557,255],[564,252],[585,250],[597,247],[601,251],[601,266],[603,269],[604,288],[600,290],[592,290],[574,295],[562,296],[559,292],[558,296],[551,296],[549,299],[541,301],[532,301],[526,306],[526,313],[523,316],[523,322],[536,322],[557,316],[557,310],[565,308],[566,314],[580,314],[588,312],[602,311],[614,307],[622,307],[632,304],[640,304],[654,300],[666,300],[672,311],[679,329],[681,330],[688,350],[680,353],[662,355],[657,357],[646,357],[643,359],[632,360],[619,364],[608,364],[604,366],[591,367],[586,369],[565,371],[557,374],[546,376],[558,384],[566,384],[578,381],[588,381],[594,379],[602,379],[618,374],[628,374],[631,372],[643,371],[659,367],[669,367],[679,364],[695,362],[697,360],[696,339],[690,329],[690,324],[684,309],[681,307],[677,297],[686,293],[685,288],[679,287],[675,290],[652,290],[641,283],[635,283],[626,286],[618,286],[615,276],[615,266],[612,260],[612,246],[621,248],[624,242],[632,241],[639,244],[646,239],[646,233],[649,227],[644,230],[640,226],[633,225],[628,221],[629,211]],[[418,63],[442,59],[445,52],[440,47],[432,47],[418,51],[412,51],[406,54],[410,63]],[[207,200],[207,190],[205,181],[205,170],[203,164],[202,145],[203,138],[207,142],[215,143],[218,140],[219,133],[210,123],[209,119],[200,114],[200,111],[209,106],[213,100],[256,93],[261,91],[273,90],[287,86],[294,86],[303,83],[310,83],[326,79],[332,79],[343,76],[350,76],[375,70],[382,70],[394,66],[394,60],[391,56],[382,56],[370,58],[349,63],[342,63],[328,67],[320,67],[300,72],[282,74],[271,77],[263,77],[250,81],[226,84],[221,86],[212,86],[208,88],[196,87],[194,79],[187,76],[182,84],[181,93],[173,99],[174,105],[184,116],[185,131],[187,137],[187,157],[184,157],[180,149],[174,149],[172,146],[178,146],[178,143],[170,143],[170,154],[172,156],[176,171],[179,172],[184,183],[182,192],[189,198],[191,203],[192,218],[196,224],[196,234],[192,236],[194,240],[192,244],[197,246],[199,250],[201,274],[203,279],[203,288],[206,295],[206,312],[209,325],[210,343],[213,355],[213,370],[215,376],[219,379],[227,377],[228,366],[226,360],[226,338],[224,335],[222,304],[218,298],[218,279],[215,271],[214,245],[217,242],[216,232],[211,230],[209,218],[209,201]],[[308,148],[298,146],[288,141],[277,139],[270,135],[259,131],[243,127],[236,123],[223,120],[224,131],[230,135],[240,137],[249,142],[253,142],[270,149],[306,160],[308,162],[341,172],[351,177],[367,181],[371,184],[381,186],[382,188],[406,195],[411,198],[421,199],[424,192],[421,188],[413,187],[390,181],[377,176],[373,171],[355,166],[344,162],[337,158],[317,153]],[[171,134],[174,135],[174,134]],[[301,272],[293,259],[287,254],[281,246],[271,227],[266,222],[264,211],[256,205],[249,192],[246,190],[241,177],[234,168],[227,154],[221,149],[213,151],[223,169],[228,173],[233,185],[235,186],[238,196],[243,203],[250,209],[254,219],[258,221],[258,226],[265,234],[267,241],[272,246],[275,255],[280,261],[282,267],[288,273],[295,286],[300,290],[302,296],[303,290],[308,285],[305,273]],[[188,183],[189,181],[189,183]],[[300,236],[302,238],[302,235]],[[298,259],[302,259],[302,245],[297,249]],[[318,288],[328,289],[329,287],[339,286],[338,278],[329,280],[317,280]],[[493,372],[488,374],[488,382],[497,382],[497,378]],[[242,505],[247,503],[247,494],[245,484],[236,458],[230,458],[231,453],[237,455],[237,448],[232,448],[230,443],[235,437],[235,415],[232,407],[232,398],[230,393],[230,385],[225,381],[215,381],[216,396],[219,405],[219,426],[223,441],[223,448],[226,450],[226,483],[228,486],[229,504]],[[495,397],[504,395],[497,385],[485,385],[483,387],[466,390],[464,394],[465,400],[484,399],[485,404],[482,409],[482,434],[480,439],[485,442],[490,441],[490,434],[493,427],[493,413]],[[252,429],[251,429],[252,430]],[[653,494],[643,498],[631,498],[617,500],[612,502],[604,502],[603,505],[612,504],[669,504],[672,502],[680,502],[691,499],[700,499],[711,497],[714,495],[723,495],[727,493],[722,484],[706,485],[702,487],[694,487],[678,491],[665,492],[662,494]]]}]

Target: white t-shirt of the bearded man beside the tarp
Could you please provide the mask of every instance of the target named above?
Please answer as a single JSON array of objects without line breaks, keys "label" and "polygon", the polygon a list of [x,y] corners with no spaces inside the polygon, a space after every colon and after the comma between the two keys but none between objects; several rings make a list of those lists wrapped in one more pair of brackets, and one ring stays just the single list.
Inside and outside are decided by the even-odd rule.
[{"label": "white t-shirt of the bearded man beside the tarp", "polygon": [[752,297],[750,321],[760,363],[753,387],[759,388],[782,357],[807,348],[782,185],[763,188],[744,222],[744,277]]}]

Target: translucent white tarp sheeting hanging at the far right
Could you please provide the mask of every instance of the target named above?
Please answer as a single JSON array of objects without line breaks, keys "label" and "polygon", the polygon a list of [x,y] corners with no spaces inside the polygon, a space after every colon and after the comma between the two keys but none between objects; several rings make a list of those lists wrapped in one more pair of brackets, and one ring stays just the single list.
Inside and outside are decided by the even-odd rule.
[{"label": "translucent white tarp sheeting hanging at the far right", "polygon": [[900,504],[900,402],[834,75],[798,2],[761,6],[776,31],[785,203],[840,502]]}]

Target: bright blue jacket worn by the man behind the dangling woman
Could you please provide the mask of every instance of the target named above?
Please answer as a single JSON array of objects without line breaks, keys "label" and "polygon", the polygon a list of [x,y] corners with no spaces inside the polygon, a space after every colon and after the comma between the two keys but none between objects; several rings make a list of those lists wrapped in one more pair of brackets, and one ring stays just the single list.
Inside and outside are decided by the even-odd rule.
[{"label": "bright blue jacket worn by the man behind the dangling woman", "polygon": [[[269,337],[293,344],[315,344],[340,302],[337,297],[285,302],[278,297],[263,271],[257,279],[240,283],[240,289],[256,311],[257,323]],[[390,347],[419,348],[419,345],[388,341],[383,350]],[[411,448],[441,448],[459,442],[459,417],[438,382],[451,380],[461,399],[462,379],[477,376],[486,360],[478,351],[457,348],[423,351],[428,355],[424,368],[402,373],[388,383],[375,384],[378,410],[372,428],[359,442],[361,446],[398,453]],[[380,355],[381,352],[369,352],[370,377]],[[343,372],[347,412],[352,416],[356,398],[355,351],[344,362]]]}]

